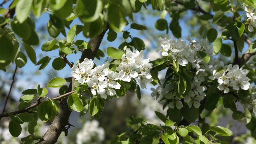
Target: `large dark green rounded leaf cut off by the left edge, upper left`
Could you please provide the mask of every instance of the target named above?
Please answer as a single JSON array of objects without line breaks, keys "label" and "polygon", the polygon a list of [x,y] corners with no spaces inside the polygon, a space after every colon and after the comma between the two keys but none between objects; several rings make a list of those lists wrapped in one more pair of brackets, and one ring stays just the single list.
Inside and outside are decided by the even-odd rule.
[{"label": "large dark green rounded leaf cut off by the left edge, upper left", "polygon": [[11,59],[11,55],[14,52],[13,45],[11,40],[7,37],[3,37],[1,39],[0,45],[1,45],[0,63],[5,63],[6,61]]}]

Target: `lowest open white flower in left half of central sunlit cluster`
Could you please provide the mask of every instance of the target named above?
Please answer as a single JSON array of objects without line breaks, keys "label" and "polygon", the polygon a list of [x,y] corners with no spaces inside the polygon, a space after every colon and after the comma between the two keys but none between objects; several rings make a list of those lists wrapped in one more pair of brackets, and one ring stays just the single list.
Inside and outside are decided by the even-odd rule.
[{"label": "lowest open white flower in left half of central sunlit cluster", "polygon": [[107,81],[99,81],[98,82],[98,77],[93,76],[90,81],[87,82],[87,85],[91,87],[91,92],[93,95],[96,95],[96,92],[98,94],[104,94],[105,93],[105,87],[108,86]]}]

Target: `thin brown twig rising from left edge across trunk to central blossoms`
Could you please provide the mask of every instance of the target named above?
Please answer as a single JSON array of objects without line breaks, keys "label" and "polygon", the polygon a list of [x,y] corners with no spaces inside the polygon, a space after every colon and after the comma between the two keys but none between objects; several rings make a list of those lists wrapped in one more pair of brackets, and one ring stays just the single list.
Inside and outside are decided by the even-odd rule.
[{"label": "thin brown twig rising from left edge across trunk to central blossoms", "polygon": [[[61,96],[59,96],[59,97],[53,98],[53,100],[60,100],[60,99],[66,97],[66,96],[68,96],[68,95],[73,94],[74,92],[76,92],[76,90],[71,91],[71,92],[69,92],[69,93],[66,93],[66,94],[64,94],[64,95],[61,95]],[[40,97],[38,97],[38,98],[40,99]],[[39,102],[37,101],[36,103],[32,104],[31,106],[29,106],[29,107],[27,107],[27,108],[25,108],[25,109],[18,110],[18,111],[12,112],[12,113],[13,113],[13,115],[17,115],[17,114],[29,112],[30,109],[32,109],[32,108],[38,106],[39,104],[40,104],[40,101],[39,101]],[[0,115],[0,118],[2,118],[2,117],[9,117],[9,113],[1,114],[1,115]]]}]

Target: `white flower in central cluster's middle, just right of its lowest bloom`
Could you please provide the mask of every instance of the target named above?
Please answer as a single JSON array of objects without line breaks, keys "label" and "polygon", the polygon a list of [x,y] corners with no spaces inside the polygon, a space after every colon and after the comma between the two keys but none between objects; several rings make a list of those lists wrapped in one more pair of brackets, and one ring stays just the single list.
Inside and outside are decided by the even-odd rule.
[{"label": "white flower in central cluster's middle, just right of its lowest bloom", "polygon": [[121,85],[117,82],[120,78],[119,73],[115,73],[114,71],[109,71],[107,77],[105,77],[105,81],[108,82],[108,86],[115,89],[120,89]]}]

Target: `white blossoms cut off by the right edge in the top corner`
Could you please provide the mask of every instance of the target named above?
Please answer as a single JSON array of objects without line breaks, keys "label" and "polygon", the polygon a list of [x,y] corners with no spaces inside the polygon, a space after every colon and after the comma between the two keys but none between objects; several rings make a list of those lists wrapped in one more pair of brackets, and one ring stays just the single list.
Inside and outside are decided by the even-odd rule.
[{"label": "white blossoms cut off by the right edge in the top corner", "polygon": [[253,27],[256,27],[256,15],[254,15],[255,8],[250,8],[246,6],[245,3],[243,4],[243,8],[246,11],[246,16],[248,17],[246,20],[248,23],[248,30],[252,32]]}]

